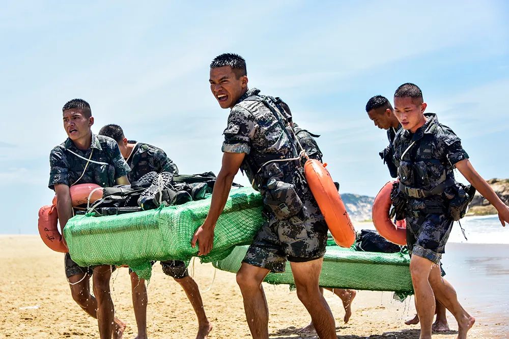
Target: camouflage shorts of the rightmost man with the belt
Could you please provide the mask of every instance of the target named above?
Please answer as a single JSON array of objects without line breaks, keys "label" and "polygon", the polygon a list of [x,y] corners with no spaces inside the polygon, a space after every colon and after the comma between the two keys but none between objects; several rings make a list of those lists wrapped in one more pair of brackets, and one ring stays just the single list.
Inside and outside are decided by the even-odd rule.
[{"label": "camouflage shorts of the rightmost man with the belt", "polygon": [[406,218],[407,245],[411,254],[439,264],[453,222],[444,214],[428,214],[419,225],[419,218]]}]

